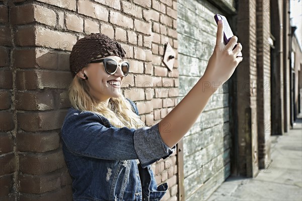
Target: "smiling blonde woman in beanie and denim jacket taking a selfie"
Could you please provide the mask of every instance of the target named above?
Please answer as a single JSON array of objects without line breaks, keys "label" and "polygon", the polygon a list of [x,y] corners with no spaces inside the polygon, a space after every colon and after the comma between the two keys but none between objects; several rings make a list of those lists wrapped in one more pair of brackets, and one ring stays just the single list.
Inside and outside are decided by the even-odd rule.
[{"label": "smiling blonde woman in beanie and denim jacket taking a selfie", "polygon": [[237,37],[216,45],[206,71],[191,91],[159,123],[148,127],[134,102],[121,93],[129,73],[125,50],[104,34],[80,39],[70,53],[69,108],[61,128],[73,200],[160,200],[168,184],[157,185],[151,164],[169,157],[194,124],[211,95],[242,58]]}]

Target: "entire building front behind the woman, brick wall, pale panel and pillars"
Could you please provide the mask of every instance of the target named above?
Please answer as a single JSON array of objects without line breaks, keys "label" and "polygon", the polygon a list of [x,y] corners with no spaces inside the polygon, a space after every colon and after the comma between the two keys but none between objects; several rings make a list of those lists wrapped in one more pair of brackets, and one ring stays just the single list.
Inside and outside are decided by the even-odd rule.
[{"label": "entire building front behind the woman, brick wall, pale panel and pillars", "polygon": [[[164,118],[203,75],[224,15],[243,61],[171,157],[153,164],[162,200],[205,200],[229,177],[270,165],[270,136],[302,112],[301,46],[286,0],[0,1],[0,200],[72,200],[60,128],[70,107],[69,53],[104,33],[126,50],[123,95],[141,119]],[[164,44],[176,52],[172,71]]]}]

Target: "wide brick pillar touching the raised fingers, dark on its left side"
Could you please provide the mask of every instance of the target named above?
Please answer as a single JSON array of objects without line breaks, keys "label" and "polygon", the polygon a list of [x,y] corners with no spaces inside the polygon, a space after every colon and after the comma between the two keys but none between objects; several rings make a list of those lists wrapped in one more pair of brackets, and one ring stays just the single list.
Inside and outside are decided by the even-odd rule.
[{"label": "wide brick pillar touching the raised fingers, dark on its left side", "polygon": [[[257,136],[257,29],[256,1],[238,2],[238,38],[243,46],[243,61],[238,65],[237,120],[234,130],[238,135],[237,175],[254,177],[258,174]],[[238,132],[238,133],[237,133]]]}]

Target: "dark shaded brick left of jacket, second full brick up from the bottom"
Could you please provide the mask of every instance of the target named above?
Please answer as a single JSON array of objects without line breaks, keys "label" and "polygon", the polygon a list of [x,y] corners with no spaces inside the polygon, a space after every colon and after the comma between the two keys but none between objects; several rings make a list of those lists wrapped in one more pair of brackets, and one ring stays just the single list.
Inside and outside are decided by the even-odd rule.
[{"label": "dark shaded brick left of jacket, second full brick up from the bottom", "polygon": [[51,153],[25,153],[19,155],[20,171],[27,174],[43,175],[66,166],[62,149]]}]

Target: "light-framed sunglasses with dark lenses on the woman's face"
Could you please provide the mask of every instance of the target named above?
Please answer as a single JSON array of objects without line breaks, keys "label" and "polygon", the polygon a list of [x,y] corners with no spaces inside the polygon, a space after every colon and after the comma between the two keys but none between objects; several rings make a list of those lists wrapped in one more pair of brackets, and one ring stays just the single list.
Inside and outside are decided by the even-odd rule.
[{"label": "light-framed sunglasses with dark lenses on the woman's face", "polygon": [[[106,73],[113,75],[115,74],[115,72],[117,71],[117,61],[114,60],[113,58],[101,58],[101,59],[96,59],[96,60],[92,60],[90,61],[90,63],[99,63],[102,62],[104,63],[104,69],[106,71]],[[127,76],[129,73],[129,68],[130,68],[130,64],[128,61],[122,61],[122,63],[120,64],[122,72],[124,74],[124,76]]]}]

